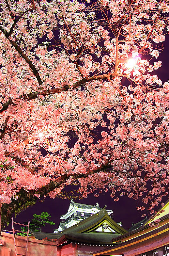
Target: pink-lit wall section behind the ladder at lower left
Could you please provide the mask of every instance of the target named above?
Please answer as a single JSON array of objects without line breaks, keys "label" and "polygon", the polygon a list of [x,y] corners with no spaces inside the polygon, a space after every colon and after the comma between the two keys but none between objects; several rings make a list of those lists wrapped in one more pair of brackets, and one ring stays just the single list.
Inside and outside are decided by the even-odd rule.
[{"label": "pink-lit wall section behind the ladder at lower left", "polygon": [[[0,256],[15,256],[13,234],[1,232]],[[16,235],[16,245],[26,247],[26,237]],[[3,243],[3,242],[2,242]],[[1,244],[1,243],[0,243]],[[17,247],[17,253],[25,254],[26,249]],[[29,237],[27,256],[56,256],[56,242],[38,240]]]}]

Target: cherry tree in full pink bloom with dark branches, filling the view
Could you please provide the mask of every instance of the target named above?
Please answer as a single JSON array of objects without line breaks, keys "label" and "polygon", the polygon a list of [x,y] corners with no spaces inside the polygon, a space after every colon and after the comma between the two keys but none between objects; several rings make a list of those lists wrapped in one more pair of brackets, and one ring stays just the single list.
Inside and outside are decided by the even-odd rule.
[{"label": "cherry tree in full pink bloom with dark branches, filling the view", "polygon": [[150,212],[167,195],[169,83],[156,59],[168,12],[166,0],[0,1],[2,227],[72,183],[84,197],[143,197]]}]

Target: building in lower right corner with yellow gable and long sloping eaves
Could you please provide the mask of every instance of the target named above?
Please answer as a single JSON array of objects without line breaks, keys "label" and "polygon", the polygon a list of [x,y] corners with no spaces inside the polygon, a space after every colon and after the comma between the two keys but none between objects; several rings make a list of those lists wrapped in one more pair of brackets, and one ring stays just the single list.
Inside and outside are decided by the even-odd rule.
[{"label": "building in lower right corner with yellow gable and long sloping eaves", "polygon": [[111,241],[113,247],[93,252],[93,256],[169,256],[169,200],[140,227]]}]

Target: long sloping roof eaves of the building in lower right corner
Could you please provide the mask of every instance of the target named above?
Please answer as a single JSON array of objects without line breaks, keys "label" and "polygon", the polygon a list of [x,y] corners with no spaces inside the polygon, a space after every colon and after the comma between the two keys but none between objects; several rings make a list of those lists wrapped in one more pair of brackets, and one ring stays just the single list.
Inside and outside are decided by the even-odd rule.
[{"label": "long sloping roof eaves of the building in lower right corner", "polygon": [[[137,255],[138,251],[139,253],[147,251],[148,247],[153,243],[155,243],[155,248],[165,245],[164,239],[168,237],[168,235],[169,214],[161,217],[158,226],[151,227],[148,224],[142,225],[134,231],[114,238],[112,240],[115,242],[113,247],[94,252],[93,256],[122,255],[124,252],[130,252],[132,254],[132,250],[134,255]],[[166,244],[168,244],[168,240],[166,241]],[[141,247],[143,247],[144,251],[141,251]]]}]

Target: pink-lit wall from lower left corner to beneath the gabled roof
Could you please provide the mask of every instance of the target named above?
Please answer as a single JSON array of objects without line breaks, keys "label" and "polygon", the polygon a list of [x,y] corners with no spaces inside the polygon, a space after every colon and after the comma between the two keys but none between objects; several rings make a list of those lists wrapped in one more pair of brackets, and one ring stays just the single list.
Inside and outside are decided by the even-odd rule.
[{"label": "pink-lit wall from lower left corner to beneath the gabled roof", "polygon": [[[26,237],[16,235],[16,245],[26,247]],[[3,244],[3,245],[1,245]],[[56,242],[29,237],[27,256],[92,256],[99,246],[67,244],[56,247]],[[17,247],[17,253],[25,254],[26,249]],[[15,256],[13,234],[1,232],[0,256]]]}]

